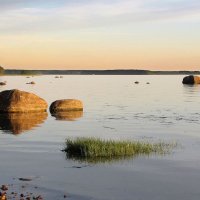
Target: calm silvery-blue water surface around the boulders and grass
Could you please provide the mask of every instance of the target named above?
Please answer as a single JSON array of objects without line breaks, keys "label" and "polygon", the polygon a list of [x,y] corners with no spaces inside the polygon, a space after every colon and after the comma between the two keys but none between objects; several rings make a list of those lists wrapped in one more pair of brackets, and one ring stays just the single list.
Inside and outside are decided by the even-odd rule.
[{"label": "calm silvery-blue water surface around the boulders and grass", "polygon": [[[0,184],[19,187],[32,177],[45,199],[196,200],[200,198],[200,86],[183,76],[1,77],[0,90],[33,92],[48,104],[76,98],[84,112],[65,120],[48,116],[0,117]],[[35,85],[27,82],[35,81]],[[138,85],[134,84],[139,81]],[[150,84],[146,84],[150,82]],[[139,156],[96,165],[67,160],[68,137],[176,141],[166,156]],[[77,168],[78,167],[78,168]],[[81,168],[79,168],[81,167]]]}]

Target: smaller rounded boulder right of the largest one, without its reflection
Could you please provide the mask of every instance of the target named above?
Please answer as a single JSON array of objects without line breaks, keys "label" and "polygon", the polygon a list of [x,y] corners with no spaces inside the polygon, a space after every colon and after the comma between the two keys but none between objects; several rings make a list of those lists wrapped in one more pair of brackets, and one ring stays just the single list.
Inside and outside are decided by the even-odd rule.
[{"label": "smaller rounded boulder right of the largest one, without its reflection", "polygon": [[49,109],[51,113],[66,111],[82,111],[83,103],[77,99],[62,99],[54,101]]}]

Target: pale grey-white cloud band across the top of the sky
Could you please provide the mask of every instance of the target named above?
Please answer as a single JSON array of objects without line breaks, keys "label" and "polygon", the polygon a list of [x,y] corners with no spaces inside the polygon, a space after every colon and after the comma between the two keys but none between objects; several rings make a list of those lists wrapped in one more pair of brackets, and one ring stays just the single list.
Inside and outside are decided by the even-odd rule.
[{"label": "pale grey-white cloud band across the top of the sky", "polygon": [[[47,3],[48,2],[48,3]],[[0,0],[0,31],[66,31],[196,15],[197,0]],[[193,18],[192,18],[193,19]]]}]

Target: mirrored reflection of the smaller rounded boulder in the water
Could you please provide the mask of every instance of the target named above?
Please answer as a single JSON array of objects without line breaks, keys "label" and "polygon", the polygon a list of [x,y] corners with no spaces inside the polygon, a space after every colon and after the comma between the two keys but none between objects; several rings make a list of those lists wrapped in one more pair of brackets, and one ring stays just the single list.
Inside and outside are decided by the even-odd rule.
[{"label": "mirrored reflection of the smaller rounded boulder in the water", "polygon": [[56,120],[62,121],[75,121],[83,117],[83,111],[66,111],[66,112],[56,112],[52,114]]}]

